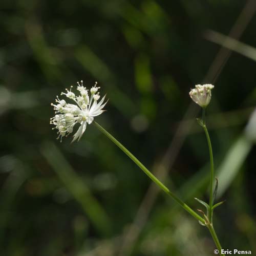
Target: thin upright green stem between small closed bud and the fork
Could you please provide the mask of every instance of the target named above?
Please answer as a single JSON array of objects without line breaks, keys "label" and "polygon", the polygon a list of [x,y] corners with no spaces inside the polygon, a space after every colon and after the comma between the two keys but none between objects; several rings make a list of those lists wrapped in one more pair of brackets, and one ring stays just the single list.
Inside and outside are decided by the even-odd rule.
[{"label": "thin upright green stem between small closed bud and the fork", "polygon": [[203,129],[207,138],[209,154],[210,154],[210,199],[209,199],[209,221],[212,223],[212,206],[214,204],[214,155],[212,154],[212,147],[210,142],[210,136],[205,124],[205,108],[203,108]]}]

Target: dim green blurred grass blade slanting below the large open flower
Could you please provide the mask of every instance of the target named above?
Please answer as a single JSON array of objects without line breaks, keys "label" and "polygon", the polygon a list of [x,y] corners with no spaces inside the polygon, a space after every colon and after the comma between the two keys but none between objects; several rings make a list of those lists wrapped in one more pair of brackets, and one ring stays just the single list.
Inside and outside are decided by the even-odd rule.
[{"label": "dim green blurred grass blade slanting below the large open flower", "polygon": [[41,146],[41,153],[45,156],[54,172],[81,205],[88,218],[101,234],[110,232],[110,220],[98,201],[91,195],[89,188],[74,172],[71,165],[52,142]]}]

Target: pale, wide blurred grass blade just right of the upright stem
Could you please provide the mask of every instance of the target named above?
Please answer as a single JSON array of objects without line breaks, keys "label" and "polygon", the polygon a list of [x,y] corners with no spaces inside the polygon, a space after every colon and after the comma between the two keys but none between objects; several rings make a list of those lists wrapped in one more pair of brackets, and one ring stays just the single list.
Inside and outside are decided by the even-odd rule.
[{"label": "pale, wide blurred grass blade just right of the upright stem", "polygon": [[217,198],[223,195],[230,183],[237,176],[240,167],[244,163],[252,143],[243,135],[230,147],[225,159],[218,168],[219,190]]}]

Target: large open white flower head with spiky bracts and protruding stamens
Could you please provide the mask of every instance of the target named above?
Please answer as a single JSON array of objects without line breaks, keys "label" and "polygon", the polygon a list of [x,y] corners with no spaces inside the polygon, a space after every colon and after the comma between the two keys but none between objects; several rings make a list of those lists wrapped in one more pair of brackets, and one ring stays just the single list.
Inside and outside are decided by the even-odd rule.
[{"label": "large open white flower head with spiky bracts and protruding stamens", "polygon": [[[57,96],[56,104],[51,104],[54,106],[55,116],[51,118],[50,124],[55,125],[53,129],[57,129],[58,137],[60,137],[60,141],[63,136],[68,136],[73,132],[73,128],[76,123],[80,126],[77,132],[73,135],[73,141],[76,139],[79,140],[82,137],[84,131],[86,131],[87,123],[91,124],[94,117],[100,115],[104,112],[102,110],[106,104],[104,102],[105,96],[97,103],[100,98],[99,93],[95,94],[99,87],[96,87],[97,82],[94,87],[91,88],[91,97],[89,98],[88,90],[83,87],[83,81],[77,82],[78,87],[77,90],[80,92],[79,96],[76,96],[72,90],[72,86],[70,90],[66,89],[67,93],[61,93],[61,95],[66,95],[67,98],[72,99],[75,104],[67,103],[63,99],[59,99]],[[104,103],[103,103],[104,102]]]}]

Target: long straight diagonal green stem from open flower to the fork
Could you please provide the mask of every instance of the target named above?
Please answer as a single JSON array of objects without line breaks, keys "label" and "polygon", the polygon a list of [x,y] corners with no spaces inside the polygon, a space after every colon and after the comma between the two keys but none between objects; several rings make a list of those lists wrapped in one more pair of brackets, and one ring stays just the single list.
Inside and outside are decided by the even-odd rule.
[{"label": "long straight diagonal green stem from open flower to the fork", "polygon": [[155,182],[166,194],[172,197],[180,206],[182,206],[190,215],[195,217],[197,220],[205,223],[204,219],[200,217],[193,209],[186,205],[180,198],[173,194],[160,180],[158,180],[126,147],[124,147],[118,140],[116,140],[110,133],[108,133],[102,126],[100,126],[95,121],[94,125],[112,142],[114,142],[120,150],[122,150],[127,156],[129,156],[142,170],[143,172],[150,177],[150,179]]}]

